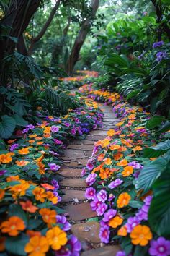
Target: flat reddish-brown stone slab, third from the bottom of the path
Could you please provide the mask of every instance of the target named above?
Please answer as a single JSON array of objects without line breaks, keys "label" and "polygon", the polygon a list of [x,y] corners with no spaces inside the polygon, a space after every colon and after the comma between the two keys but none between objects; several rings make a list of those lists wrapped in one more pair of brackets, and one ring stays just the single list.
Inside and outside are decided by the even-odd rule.
[{"label": "flat reddish-brown stone slab, third from the bottom of the path", "polygon": [[91,210],[89,202],[82,202],[79,205],[66,205],[64,210],[68,213],[69,219],[73,221],[84,221],[86,218],[97,216],[97,213]]}]

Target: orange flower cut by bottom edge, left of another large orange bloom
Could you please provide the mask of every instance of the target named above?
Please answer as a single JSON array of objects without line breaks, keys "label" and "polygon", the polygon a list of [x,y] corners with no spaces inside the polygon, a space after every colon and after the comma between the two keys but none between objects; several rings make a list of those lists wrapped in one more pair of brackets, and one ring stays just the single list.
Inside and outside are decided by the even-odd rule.
[{"label": "orange flower cut by bottom edge, left of another large orange bloom", "polygon": [[33,236],[24,247],[24,251],[29,256],[45,256],[48,252],[49,244],[45,236]]}]

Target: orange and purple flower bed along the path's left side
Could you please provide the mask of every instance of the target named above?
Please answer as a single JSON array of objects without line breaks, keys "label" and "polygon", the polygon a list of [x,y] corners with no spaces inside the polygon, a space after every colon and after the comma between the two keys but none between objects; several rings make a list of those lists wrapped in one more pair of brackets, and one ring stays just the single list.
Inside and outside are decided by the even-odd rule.
[{"label": "orange and purple flower bed along the path's left side", "polygon": [[89,100],[66,116],[47,116],[42,124],[29,124],[20,138],[7,141],[7,149],[0,152],[1,252],[79,255],[81,244],[69,234],[71,225],[58,207],[58,155],[69,140],[84,138],[101,121],[101,111]]}]

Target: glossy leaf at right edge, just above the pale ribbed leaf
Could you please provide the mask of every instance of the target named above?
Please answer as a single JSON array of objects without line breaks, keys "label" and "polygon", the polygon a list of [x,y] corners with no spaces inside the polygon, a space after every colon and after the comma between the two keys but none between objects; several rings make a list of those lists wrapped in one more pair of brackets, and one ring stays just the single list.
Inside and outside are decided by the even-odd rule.
[{"label": "glossy leaf at right edge, just above the pale ribbed leaf", "polygon": [[170,149],[170,140],[158,143],[155,147],[145,148],[143,155],[145,158],[157,158]]}]

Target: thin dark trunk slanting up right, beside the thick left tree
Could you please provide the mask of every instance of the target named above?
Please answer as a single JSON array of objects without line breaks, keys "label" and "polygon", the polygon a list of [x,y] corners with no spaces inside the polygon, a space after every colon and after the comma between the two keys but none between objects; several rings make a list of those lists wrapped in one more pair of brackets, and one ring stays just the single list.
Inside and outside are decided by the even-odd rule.
[{"label": "thin dark trunk slanting up right, beside the thick left tree", "polygon": [[60,6],[60,3],[61,3],[61,0],[58,0],[55,3],[55,6],[53,7],[52,11],[50,12],[50,16],[48,17],[48,20],[45,22],[45,25],[42,27],[42,30],[40,30],[40,33],[35,38],[32,38],[30,48],[28,49],[29,55],[32,54],[35,43],[37,43],[37,41],[39,41],[42,38],[42,36],[45,34],[46,30],[50,26],[50,23],[52,22],[55,12],[58,10],[58,7]]}]

